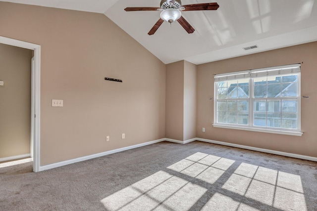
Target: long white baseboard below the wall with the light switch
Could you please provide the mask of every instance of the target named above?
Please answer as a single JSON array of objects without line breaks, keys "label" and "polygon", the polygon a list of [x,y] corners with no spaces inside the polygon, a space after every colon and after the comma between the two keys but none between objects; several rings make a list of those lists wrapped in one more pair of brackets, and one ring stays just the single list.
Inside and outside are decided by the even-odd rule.
[{"label": "long white baseboard below the wall with the light switch", "polygon": [[80,158],[75,158],[75,159],[71,159],[71,160],[67,160],[67,161],[62,161],[62,162],[58,162],[58,163],[54,163],[54,164],[50,164],[50,165],[46,165],[46,166],[42,166],[42,167],[40,167],[40,171],[53,169],[53,168],[57,168],[57,167],[62,167],[62,166],[66,166],[66,165],[69,165],[69,164],[74,164],[74,163],[77,163],[77,162],[87,161],[87,160],[90,160],[90,159],[93,159],[93,158],[99,158],[99,157],[110,155],[110,154],[114,154],[114,153],[117,153],[117,152],[122,152],[122,151],[129,150],[129,149],[134,149],[134,148],[143,147],[143,146],[150,145],[150,144],[155,144],[155,143],[158,143],[158,142],[161,142],[161,141],[165,141],[165,138],[158,139],[158,140],[155,140],[155,141],[149,141],[149,142],[142,143],[142,144],[136,144],[136,145],[133,145],[133,146],[128,146],[128,147],[123,147],[123,148],[119,148],[119,149],[114,149],[114,150],[110,150],[110,151],[106,151],[106,152],[102,152],[102,153],[97,153],[97,154],[94,154],[94,155],[88,155],[88,156],[84,156],[84,157],[80,157]]}]

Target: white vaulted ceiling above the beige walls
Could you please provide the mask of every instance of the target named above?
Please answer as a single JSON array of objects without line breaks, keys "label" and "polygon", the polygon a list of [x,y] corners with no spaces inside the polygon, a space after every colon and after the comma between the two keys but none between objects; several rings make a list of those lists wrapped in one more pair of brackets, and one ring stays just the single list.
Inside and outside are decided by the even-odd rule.
[{"label": "white vaulted ceiling above the beige walls", "polygon": [[[159,11],[126,12],[125,7],[159,7],[160,0],[2,0],[64,9],[104,13],[136,41],[168,64],[194,64],[317,41],[317,0],[182,0],[182,4],[217,2],[218,10],[183,11],[196,30],[187,32],[178,22],[159,20]],[[106,26],[105,26],[106,27]],[[243,47],[258,45],[244,50]]]}]

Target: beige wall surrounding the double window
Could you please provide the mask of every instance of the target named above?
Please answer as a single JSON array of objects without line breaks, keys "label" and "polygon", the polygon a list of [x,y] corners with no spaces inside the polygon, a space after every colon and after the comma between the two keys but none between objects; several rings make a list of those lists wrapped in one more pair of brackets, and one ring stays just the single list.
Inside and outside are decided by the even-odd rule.
[{"label": "beige wall surrounding the double window", "polygon": [[[197,136],[199,138],[317,157],[316,58],[317,42],[311,42],[199,65]],[[251,132],[211,126],[213,123],[213,100],[209,100],[209,98],[213,97],[213,74],[294,63],[302,63],[301,94],[310,96],[308,99],[302,98],[301,100],[303,136]],[[202,132],[202,127],[206,127],[206,132]]]}]

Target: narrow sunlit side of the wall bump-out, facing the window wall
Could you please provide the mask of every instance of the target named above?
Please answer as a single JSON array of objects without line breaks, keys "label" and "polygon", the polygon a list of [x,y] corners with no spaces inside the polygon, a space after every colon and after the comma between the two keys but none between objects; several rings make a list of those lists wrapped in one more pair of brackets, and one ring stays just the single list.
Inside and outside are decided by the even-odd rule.
[{"label": "narrow sunlit side of the wall bump-out, facing the window wall", "polygon": [[184,61],[184,140],[196,138],[197,65]]}]

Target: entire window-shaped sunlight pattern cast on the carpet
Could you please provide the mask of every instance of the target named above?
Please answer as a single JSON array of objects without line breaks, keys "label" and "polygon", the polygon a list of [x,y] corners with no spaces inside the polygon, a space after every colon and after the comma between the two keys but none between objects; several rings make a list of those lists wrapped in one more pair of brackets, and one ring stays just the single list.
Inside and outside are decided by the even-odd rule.
[{"label": "entire window-shaped sunlight pattern cast on the carpet", "polygon": [[[184,211],[197,205],[203,205],[203,211],[259,211],[254,203],[247,203],[254,201],[266,209],[307,211],[299,175],[247,163],[233,166],[234,163],[198,152],[170,165],[166,171],[160,170],[117,191],[101,203],[108,211]],[[211,193],[201,186],[206,182],[222,184],[221,189]],[[244,198],[244,203],[235,194]]]}]

